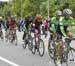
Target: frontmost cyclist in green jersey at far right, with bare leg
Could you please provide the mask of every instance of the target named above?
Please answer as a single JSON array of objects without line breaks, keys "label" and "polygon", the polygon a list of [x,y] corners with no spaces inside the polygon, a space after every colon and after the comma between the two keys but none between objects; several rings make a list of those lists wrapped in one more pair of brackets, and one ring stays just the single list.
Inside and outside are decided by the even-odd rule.
[{"label": "frontmost cyclist in green jersey at far right, with bare leg", "polygon": [[[61,35],[63,37],[72,37],[72,32],[74,32],[74,19],[71,17],[72,11],[70,9],[64,9],[63,10],[64,17],[60,19],[60,31]],[[72,29],[72,30],[71,30]],[[58,59],[60,61],[61,55],[62,55],[62,40],[58,41],[58,48],[57,48],[57,53],[58,53]],[[61,66],[61,65],[60,65]]]}]

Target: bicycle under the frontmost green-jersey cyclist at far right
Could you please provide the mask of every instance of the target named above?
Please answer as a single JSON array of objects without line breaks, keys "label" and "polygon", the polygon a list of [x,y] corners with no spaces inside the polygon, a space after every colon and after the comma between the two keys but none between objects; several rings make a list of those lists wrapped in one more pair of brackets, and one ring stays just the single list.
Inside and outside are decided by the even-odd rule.
[{"label": "bicycle under the frontmost green-jersey cyclist at far right", "polygon": [[[61,65],[63,63],[66,63],[66,66],[69,66],[68,65],[68,57],[69,57],[69,55],[72,55],[72,59],[70,59],[70,61],[74,61],[73,52],[75,52],[75,49],[70,46],[70,42],[72,40],[75,40],[75,38],[65,38],[65,42],[63,42],[62,55],[61,55],[61,58],[60,58]],[[57,49],[56,49],[56,41],[54,43],[55,43],[54,44],[55,45],[54,63],[55,63],[55,66],[58,66],[57,65],[58,55],[57,55]]]}]

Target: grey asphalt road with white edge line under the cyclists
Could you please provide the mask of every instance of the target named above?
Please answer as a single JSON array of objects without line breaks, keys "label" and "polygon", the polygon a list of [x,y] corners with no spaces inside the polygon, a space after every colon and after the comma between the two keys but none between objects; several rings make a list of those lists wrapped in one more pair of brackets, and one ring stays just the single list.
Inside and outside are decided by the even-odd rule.
[{"label": "grey asphalt road with white edge line under the cyclists", "polygon": [[[53,60],[50,59],[48,55],[47,41],[48,37],[45,39],[44,36],[42,39],[45,42],[45,55],[40,57],[38,53],[33,55],[28,48],[22,48],[22,34],[17,32],[18,35],[18,45],[12,45],[9,42],[0,40],[0,66],[54,66]],[[75,47],[75,42],[71,44]],[[75,58],[75,54],[74,54]],[[75,61],[70,62],[70,66],[75,66]],[[62,66],[65,66],[64,64]]]}]

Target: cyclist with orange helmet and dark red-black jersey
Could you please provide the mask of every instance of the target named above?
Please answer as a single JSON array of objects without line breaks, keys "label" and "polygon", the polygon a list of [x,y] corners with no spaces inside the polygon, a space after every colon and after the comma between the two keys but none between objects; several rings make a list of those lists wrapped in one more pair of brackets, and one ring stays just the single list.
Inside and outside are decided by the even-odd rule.
[{"label": "cyclist with orange helmet and dark red-black jersey", "polygon": [[[40,31],[40,26],[42,25],[41,15],[37,15],[37,16],[35,17],[35,20],[33,21],[32,25],[33,25],[34,30],[35,30],[35,31],[34,31],[34,38],[35,38],[35,41],[38,41],[39,35],[40,35],[40,33],[41,33],[41,31]],[[36,45],[36,48],[38,48],[37,45]]]}]

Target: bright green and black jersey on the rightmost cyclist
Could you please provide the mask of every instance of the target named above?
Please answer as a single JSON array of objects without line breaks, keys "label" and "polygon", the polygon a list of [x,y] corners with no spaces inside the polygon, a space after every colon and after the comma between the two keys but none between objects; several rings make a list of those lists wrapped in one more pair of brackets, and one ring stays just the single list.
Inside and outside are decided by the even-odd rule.
[{"label": "bright green and black jersey on the rightmost cyclist", "polygon": [[[68,20],[66,20],[64,17],[60,19],[60,25],[74,25],[74,19],[72,17],[70,17]],[[75,26],[72,26],[71,29],[72,29],[72,32],[74,32],[74,27]],[[67,32],[66,32],[66,28],[67,26],[60,26],[60,30],[63,34],[64,37],[67,37]]]}]

